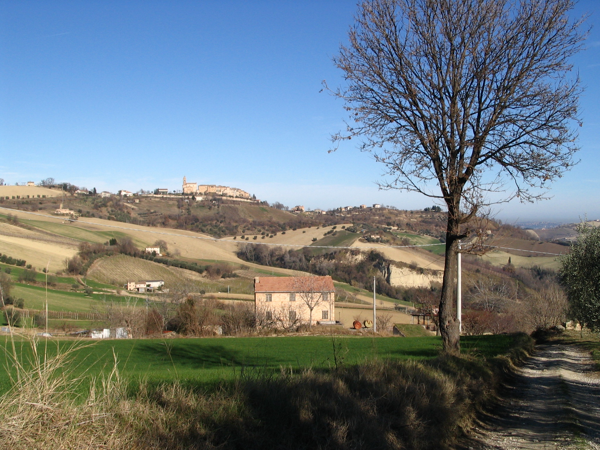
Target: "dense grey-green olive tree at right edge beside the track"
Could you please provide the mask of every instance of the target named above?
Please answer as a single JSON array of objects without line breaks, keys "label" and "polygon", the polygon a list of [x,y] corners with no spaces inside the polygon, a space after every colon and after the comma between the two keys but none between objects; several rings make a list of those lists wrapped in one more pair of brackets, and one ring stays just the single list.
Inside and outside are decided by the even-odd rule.
[{"label": "dense grey-green olive tree at right edge beside the track", "polygon": [[561,257],[560,281],[569,301],[569,315],[600,332],[600,227],[581,225],[571,252]]}]

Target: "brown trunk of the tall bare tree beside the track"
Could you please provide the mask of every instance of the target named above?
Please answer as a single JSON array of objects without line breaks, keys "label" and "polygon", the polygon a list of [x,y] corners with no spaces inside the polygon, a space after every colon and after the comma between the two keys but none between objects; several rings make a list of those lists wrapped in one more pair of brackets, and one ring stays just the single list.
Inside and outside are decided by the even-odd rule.
[{"label": "brown trunk of the tall bare tree beside the track", "polygon": [[439,322],[438,328],[442,335],[442,346],[446,353],[460,352],[459,323],[455,320],[454,314],[457,250],[458,224],[455,220],[448,217],[448,226],[446,227],[446,262],[444,264],[440,310],[437,316]]}]

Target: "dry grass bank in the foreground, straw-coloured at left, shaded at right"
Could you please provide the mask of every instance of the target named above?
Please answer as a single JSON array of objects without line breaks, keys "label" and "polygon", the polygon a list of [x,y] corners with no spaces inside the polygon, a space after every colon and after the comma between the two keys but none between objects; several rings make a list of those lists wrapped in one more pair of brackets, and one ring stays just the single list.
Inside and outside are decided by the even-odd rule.
[{"label": "dry grass bank in the foreground, straw-coloured at left, shaded at right", "polygon": [[1,398],[0,447],[8,450],[448,448],[493,392],[494,367],[510,364],[446,356],[320,373],[281,368],[278,376],[242,373],[211,392],[178,383],[128,392],[113,370],[80,396],[84,379],[63,376],[75,348],[47,361],[35,355],[28,369],[8,350],[19,367]]}]

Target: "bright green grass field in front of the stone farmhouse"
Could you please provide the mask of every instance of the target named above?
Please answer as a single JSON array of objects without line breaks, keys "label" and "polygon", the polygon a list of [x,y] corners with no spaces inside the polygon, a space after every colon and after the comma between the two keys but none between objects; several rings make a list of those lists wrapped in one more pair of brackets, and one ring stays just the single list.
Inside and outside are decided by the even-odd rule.
[{"label": "bright green grass field in front of the stone farmhouse", "polygon": [[[89,340],[79,341],[89,343]],[[461,338],[463,352],[490,358],[508,352],[514,337],[486,335]],[[0,337],[8,346],[8,337]],[[77,344],[73,340],[49,340],[49,354],[57,346]],[[46,340],[38,342],[41,354]],[[118,359],[121,374],[135,382],[180,380],[193,385],[211,385],[232,380],[242,373],[269,374],[280,370],[298,372],[311,367],[329,370],[334,366],[334,345],[343,364],[357,364],[368,359],[431,359],[441,347],[438,337],[224,337],[179,339],[131,339],[97,341],[92,346],[77,350],[69,371],[98,376],[113,367],[113,352]],[[8,347],[5,348],[9,352]],[[17,342],[17,352],[31,353],[29,343]],[[5,353],[5,358],[8,358]],[[11,368],[7,359],[2,369]],[[0,376],[0,391],[8,387],[7,376]]]}]

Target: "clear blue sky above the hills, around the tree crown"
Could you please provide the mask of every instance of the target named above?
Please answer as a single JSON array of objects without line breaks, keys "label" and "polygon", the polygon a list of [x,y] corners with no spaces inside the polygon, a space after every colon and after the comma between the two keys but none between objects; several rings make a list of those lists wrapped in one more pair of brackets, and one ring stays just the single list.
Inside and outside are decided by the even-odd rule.
[{"label": "clear blue sky above the hills, around the tree crown", "polygon": [[[596,20],[595,1],[577,13]],[[232,185],[269,202],[335,208],[431,205],[378,191],[383,167],[345,145],[331,56],[355,1],[4,1],[0,11],[0,177],[98,190]],[[596,27],[597,28],[597,27]],[[575,59],[581,163],[553,199],[495,209],[503,220],[600,218],[600,33]]]}]

